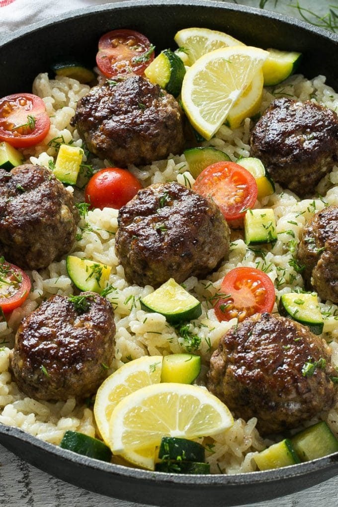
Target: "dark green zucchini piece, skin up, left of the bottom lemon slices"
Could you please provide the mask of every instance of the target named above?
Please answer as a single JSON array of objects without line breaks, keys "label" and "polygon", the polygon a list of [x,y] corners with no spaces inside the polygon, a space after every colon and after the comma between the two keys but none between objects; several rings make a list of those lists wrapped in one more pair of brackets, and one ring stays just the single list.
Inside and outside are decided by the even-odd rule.
[{"label": "dark green zucchini piece, skin up, left of the bottom lemon slices", "polygon": [[60,447],[90,458],[111,461],[111,451],[108,446],[98,439],[79,433],[79,431],[66,431]]}]

